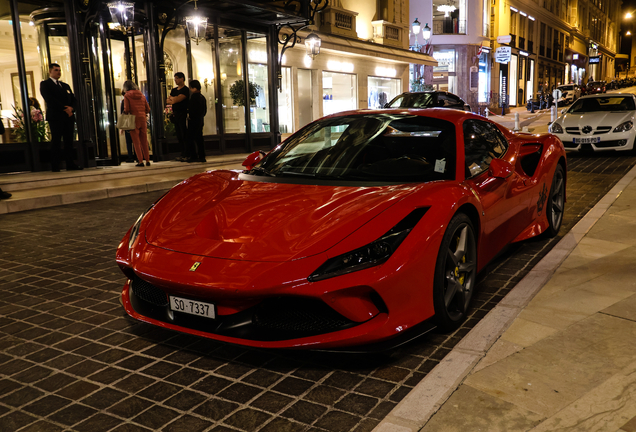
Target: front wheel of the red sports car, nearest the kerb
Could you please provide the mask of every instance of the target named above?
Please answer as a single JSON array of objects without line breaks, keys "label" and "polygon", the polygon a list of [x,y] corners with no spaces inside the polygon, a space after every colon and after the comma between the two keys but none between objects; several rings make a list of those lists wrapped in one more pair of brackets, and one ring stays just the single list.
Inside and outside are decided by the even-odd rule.
[{"label": "front wheel of the red sports car, nearest the kerb", "polygon": [[454,330],[466,319],[476,275],[475,230],[468,216],[458,213],[446,228],[435,265],[433,300],[442,330]]}]

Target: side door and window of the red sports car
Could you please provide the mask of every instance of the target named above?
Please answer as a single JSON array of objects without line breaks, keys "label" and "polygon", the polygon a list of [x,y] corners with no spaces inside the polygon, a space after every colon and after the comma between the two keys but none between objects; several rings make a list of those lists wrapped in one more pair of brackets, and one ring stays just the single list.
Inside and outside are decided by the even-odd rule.
[{"label": "side door and window of the red sports car", "polygon": [[466,183],[483,210],[480,260],[487,262],[530,224],[531,187],[514,169],[506,178],[491,174],[493,159],[501,159],[508,150],[508,141],[496,126],[469,119],[463,124],[463,133]]}]

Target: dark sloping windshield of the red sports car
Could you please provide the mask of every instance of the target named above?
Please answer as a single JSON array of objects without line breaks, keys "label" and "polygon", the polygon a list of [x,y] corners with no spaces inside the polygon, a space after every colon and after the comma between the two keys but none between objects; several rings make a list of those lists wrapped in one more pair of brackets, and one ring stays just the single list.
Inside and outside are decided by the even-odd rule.
[{"label": "dark sloping windshield of the red sports car", "polygon": [[455,125],[405,114],[326,118],[287,139],[250,174],[366,182],[455,178]]}]

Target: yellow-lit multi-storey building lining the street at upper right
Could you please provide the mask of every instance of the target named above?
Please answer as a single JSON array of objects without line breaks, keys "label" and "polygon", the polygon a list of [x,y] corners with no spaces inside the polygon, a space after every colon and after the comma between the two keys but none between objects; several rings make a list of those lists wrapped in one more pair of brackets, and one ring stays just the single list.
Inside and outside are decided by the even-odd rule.
[{"label": "yellow-lit multi-storey building lining the street at upper right", "polygon": [[510,106],[525,105],[537,92],[567,83],[614,78],[619,49],[620,4],[600,0],[495,0],[499,35],[510,35],[512,58],[497,64],[501,89],[507,72]]}]

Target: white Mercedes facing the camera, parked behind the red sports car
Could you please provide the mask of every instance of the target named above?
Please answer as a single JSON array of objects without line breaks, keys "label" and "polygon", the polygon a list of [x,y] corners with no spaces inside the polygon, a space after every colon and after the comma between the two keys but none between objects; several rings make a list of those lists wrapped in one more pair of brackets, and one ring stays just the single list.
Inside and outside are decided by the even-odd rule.
[{"label": "white Mercedes facing the camera, parked behind the red sports car", "polygon": [[634,148],[636,96],[605,93],[583,96],[561,111],[550,125],[566,150],[619,150]]}]

